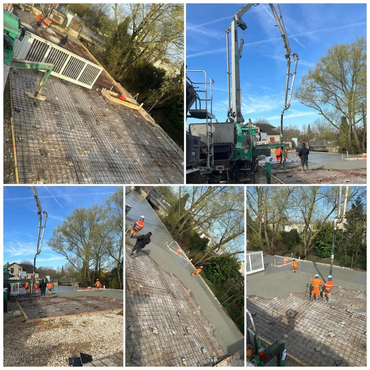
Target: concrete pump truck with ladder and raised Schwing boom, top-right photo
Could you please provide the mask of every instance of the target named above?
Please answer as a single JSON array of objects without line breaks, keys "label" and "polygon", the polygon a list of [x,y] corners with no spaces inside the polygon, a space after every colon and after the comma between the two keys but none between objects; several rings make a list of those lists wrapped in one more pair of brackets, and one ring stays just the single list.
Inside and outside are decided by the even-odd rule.
[{"label": "concrete pump truck with ladder and raised Schwing boom, top-right photo", "polygon": [[[287,60],[285,101],[280,119],[280,142],[274,144],[263,142],[260,132],[257,132],[250,119],[248,119],[247,124],[243,124],[245,120],[241,111],[239,60],[242,57],[244,32],[247,26],[242,16],[252,6],[258,5],[244,5],[233,17],[231,27],[226,29],[226,73],[228,75],[228,119],[226,122],[218,122],[217,120],[214,122],[215,115],[212,113],[213,79],[210,78],[208,81],[206,71],[203,70],[186,71],[186,117],[205,120],[202,123],[189,124],[189,129],[186,132],[187,184],[240,183],[250,181],[251,178],[253,184],[255,184],[259,161],[263,159],[266,162],[266,182],[270,184],[271,149],[277,148],[282,149],[282,163],[283,169],[285,169],[283,115],[290,107],[298,55],[290,50],[279,4],[277,4],[279,14],[276,12],[273,4],[269,5],[281,33]],[[243,31],[240,42],[238,28]],[[229,34],[231,34],[231,71],[229,63]],[[294,64],[293,73],[290,72],[292,63]],[[205,76],[205,79],[201,79],[201,82],[192,81],[188,73],[200,73]],[[289,87],[290,77],[292,77],[292,82]],[[200,90],[199,86],[195,85],[202,85],[204,89]],[[195,108],[193,107],[194,104]],[[193,109],[191,109],[192,107]]]}]

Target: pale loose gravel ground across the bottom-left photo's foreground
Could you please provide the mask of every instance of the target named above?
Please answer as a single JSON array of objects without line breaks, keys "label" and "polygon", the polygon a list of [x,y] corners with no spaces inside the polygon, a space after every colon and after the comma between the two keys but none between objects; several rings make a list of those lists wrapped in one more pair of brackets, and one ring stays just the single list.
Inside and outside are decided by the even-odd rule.
[{"label": "pale loose gravel ground across the bottom-left photo's foreground", "polygon": [[[8,310],[18,309],[8,302]],[[68,366],[68,357],[80,352],[93,360],[123,349],[123,310],[35,323],[4,313],[4,366]]]}]

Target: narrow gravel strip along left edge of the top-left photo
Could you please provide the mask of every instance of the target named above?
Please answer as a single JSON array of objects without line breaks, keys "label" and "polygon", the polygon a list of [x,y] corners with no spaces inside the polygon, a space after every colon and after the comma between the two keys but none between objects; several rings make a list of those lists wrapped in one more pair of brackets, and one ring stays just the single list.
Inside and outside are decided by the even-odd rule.
[{"label": "narrow gravel strip along left edge of the top-left photo", "polygon": [[[10,70],[11,73],[11,70]],[[16,175],[14,173],[14,159],[13,159],[13,144],[11,141],[11,127],[10,127],[10,115],[11,115],[11,105],[10,105],[10,88],[9,80],[7,81],[4,89],[4,125],[3,125],[3,143],[4,143],[4,184],[15,184]]]}]

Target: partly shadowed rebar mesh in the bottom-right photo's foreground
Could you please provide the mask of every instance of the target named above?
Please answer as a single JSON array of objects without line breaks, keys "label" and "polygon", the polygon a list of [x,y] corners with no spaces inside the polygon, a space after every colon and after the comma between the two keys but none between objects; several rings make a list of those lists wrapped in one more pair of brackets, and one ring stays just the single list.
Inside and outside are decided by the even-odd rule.
[{"label": "partly shadowed rebar mesh in the bottom-right photo's foreground", "polygon": [[273,299],[249,295],[246,308],[260,337],[273,343],[287,334],[287,351],[309,366],[366,366],[363,293],[342,288],[329,303],[311,303],[304,292]]}]

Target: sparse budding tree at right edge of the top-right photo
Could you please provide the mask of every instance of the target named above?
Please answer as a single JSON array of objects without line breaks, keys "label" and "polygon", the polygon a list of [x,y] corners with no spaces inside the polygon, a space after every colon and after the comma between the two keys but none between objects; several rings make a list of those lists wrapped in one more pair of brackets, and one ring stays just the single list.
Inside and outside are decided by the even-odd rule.
[{"label": "sparse budding tree at right edge of the top-right photo", "polygon": [[340,117],[346,117],[348,128],[342,133],[347,136],[349,152],[365,152],[366,38],[329,48],[314,69],[302,76],[295,97],[339,131]]}]

